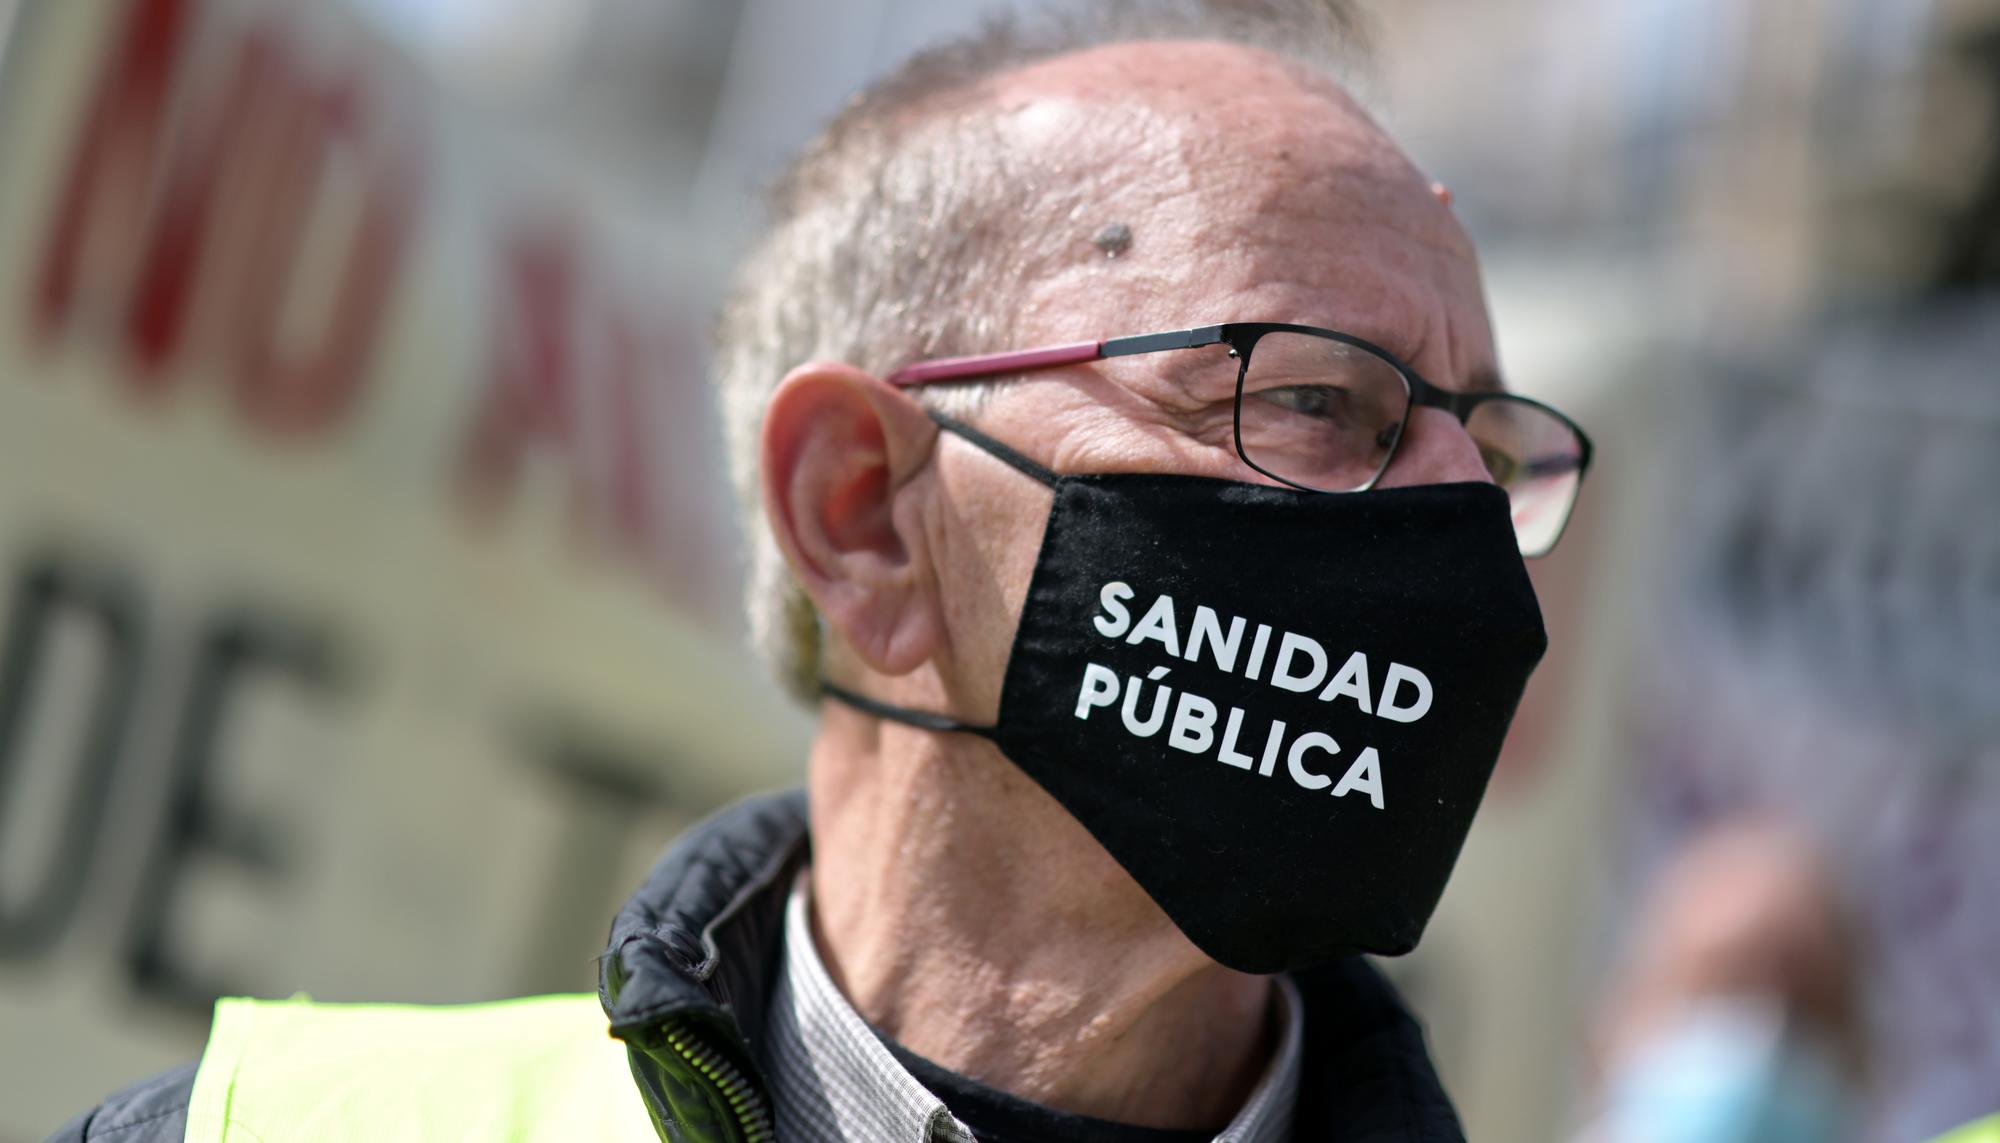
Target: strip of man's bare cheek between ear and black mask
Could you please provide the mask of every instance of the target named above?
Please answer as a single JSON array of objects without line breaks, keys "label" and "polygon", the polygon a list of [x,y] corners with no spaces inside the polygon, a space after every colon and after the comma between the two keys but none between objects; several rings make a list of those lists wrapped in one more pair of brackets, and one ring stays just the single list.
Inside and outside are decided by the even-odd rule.
[{"label": "strip of man's bare cheek between ear and black mask", "polygon": [[1050,496],[984,456],[952,456],[938,466],[928,536],[946,639],[936,665],[954,699],[964,701],[958,709],[998,709]]}]

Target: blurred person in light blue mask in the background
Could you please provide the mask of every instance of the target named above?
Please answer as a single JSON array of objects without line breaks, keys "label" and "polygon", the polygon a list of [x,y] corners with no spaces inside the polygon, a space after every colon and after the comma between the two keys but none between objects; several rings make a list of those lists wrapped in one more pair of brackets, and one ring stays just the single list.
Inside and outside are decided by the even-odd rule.
[{"label": "blurred person in light blue mask in the background", "polygon": [[1594,1043],[1590,1143],[1856,1135],[1858,939],[1816,843],[1768,817],[1688,843],[1640,907]]}]

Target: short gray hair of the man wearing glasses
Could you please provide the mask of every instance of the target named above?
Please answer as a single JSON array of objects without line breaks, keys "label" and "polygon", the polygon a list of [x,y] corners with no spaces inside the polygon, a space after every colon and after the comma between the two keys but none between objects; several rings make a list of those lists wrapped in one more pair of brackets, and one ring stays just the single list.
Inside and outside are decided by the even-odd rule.
[{"label": "short gray hair of the man wearing glasses", "polygon": [[[1074,178],[992,132],[990,80],[1132,40],[1224,40],[1332,72],[1358,42],[1348,0],[1114,0],[1084,16],[1000,20],[922,52],[866,88],[806,146],[772,194],[772,224],[738,270],[716,334],[730,474],[750,546],[750,637],[778,681],[812,701],[820,619],[764,522],[758,438],[778,380],[808,360],[878,376],[920,358],[1008,348],[1014,284],[1048,234],[1086,206]],[[1034,188],[1034,194],[1024,194]],[[926,394],[966,412],[980,388]]]}]

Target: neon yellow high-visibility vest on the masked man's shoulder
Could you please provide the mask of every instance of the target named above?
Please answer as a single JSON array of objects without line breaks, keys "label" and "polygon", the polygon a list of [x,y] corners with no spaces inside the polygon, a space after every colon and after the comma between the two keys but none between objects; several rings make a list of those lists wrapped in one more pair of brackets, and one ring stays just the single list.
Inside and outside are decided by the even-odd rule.
[{"label": "neon yellow high-visibility vest on the masked man's shoulder", "polygon": [[594,995],[456,1007],[226,999],[186,1137],[660,1139]]}]

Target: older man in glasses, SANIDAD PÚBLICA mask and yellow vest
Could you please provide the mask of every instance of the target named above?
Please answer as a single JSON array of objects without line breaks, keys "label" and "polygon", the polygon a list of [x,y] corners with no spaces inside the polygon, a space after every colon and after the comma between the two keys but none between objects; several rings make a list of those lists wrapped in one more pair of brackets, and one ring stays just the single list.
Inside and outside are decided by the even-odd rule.
[{"label": "older man in glasses, SANIDAD P\u00daBLICA mask and yellow vest", "polygon": [[676,845],[600,997],[226,1001],[70,1137],[1460,1137],[1358,953],[1436,905],[1588,442],[1500,390],[1446,196],[1244,28],[988,34],[784,182],[720,364],[808,797]]}]

